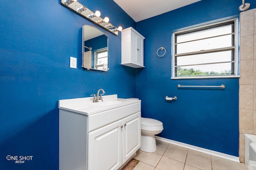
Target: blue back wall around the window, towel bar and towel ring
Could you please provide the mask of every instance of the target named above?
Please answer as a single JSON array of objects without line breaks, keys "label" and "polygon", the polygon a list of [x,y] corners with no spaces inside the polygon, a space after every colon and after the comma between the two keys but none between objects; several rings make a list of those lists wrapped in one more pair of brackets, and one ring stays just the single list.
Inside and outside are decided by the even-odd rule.
[{"label": "blue back wall around the window, towel bar and towel ring", "polygon": [[[256,8],[255,1],[248,1]],[[144,40],[145,68],[137,69],[136,96],[142,117],[163,122],[158,136],[238,156],[238,78],[171,80],[172,31],[240,14],[241,0],[202,0],[136,23]],[[156,51],[164,47],[166,55]],[[223,89],[184,89],[177,85],[220,86]],[[178,100],[166,102],[165,96]]]}]

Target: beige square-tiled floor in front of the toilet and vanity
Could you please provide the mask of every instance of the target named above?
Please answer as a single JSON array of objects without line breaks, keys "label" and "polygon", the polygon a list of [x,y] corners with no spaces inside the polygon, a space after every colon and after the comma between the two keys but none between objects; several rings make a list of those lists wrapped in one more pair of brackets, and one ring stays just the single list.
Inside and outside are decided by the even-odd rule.
[{"label": "beige square-tiled floor in front of the toilet and vanity", "polygon": [[243,163],[162,141],[156,147],[152,153],[138,150],[122,170],[247,170]]}]

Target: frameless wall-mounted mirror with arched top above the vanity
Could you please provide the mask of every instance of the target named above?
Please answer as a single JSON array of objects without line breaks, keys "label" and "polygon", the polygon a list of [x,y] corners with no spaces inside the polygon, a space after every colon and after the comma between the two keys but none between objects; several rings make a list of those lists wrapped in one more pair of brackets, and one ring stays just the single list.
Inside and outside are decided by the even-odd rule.
[{"label": "frameless wall-mounted mirror with arched top above the vanity", "polygon": [[82,32],[82,67],[108,71],[108,36],[90,25],[84,25]]}]

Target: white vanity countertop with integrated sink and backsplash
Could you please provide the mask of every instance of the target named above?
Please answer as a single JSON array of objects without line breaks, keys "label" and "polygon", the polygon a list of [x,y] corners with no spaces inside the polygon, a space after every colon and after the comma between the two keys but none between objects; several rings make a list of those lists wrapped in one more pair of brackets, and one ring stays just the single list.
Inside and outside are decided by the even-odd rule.
[{"label": "white vanity countertop with integrated sink and backsplash", "polygon": [[[93,103],[93,97],[59,100],[59,109],[81,113],[84,115],[91,115],[117,107],[141,102],[141,100],[117,98],[117,94],[102,96],[102,100],[103,102],[96,103]],[[104,105],[104,102],[106,105]]]}]

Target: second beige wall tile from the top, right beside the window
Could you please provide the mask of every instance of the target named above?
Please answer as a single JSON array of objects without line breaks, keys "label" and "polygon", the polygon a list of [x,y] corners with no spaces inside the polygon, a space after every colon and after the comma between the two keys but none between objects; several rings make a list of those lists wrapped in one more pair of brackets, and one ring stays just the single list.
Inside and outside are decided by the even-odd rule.
[{"label": "second beige wall tile from the top, right beside the window", "polygon": [[240,38],[240,60],[254,59],[254,35],[247,35]]}]

